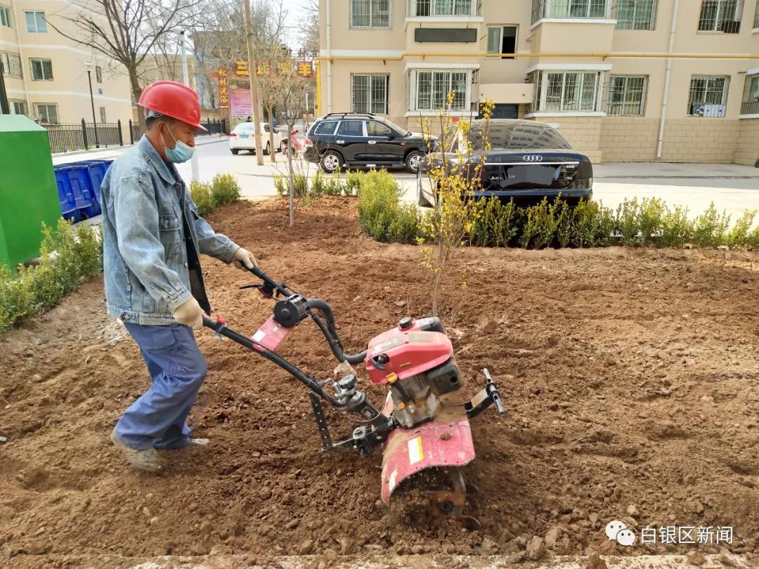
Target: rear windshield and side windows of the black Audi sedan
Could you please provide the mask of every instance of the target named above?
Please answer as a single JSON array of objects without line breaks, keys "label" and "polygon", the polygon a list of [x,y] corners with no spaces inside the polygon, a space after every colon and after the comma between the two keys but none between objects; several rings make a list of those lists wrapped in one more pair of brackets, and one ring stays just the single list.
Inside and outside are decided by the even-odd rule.
[{"label": "rear windshield and side windows of the black Audi sedan", "polygon": [[[452,140],[457,127],[452,125],[446,132],[448,140]],[[473,124],[466,134],[469,147],[475,152],[484,147],[485,132],[481,124]],[[487,132],[487,140],[491,149],[523,150],[523,149],[572,149],[572,146],[553,128],[544,124],[491,123]],[[439,141],[436,143],[439,152]],[[452,140],[450,152],[458,149],[458,137]],[[464,149],[462,149],[464,150]]]}]

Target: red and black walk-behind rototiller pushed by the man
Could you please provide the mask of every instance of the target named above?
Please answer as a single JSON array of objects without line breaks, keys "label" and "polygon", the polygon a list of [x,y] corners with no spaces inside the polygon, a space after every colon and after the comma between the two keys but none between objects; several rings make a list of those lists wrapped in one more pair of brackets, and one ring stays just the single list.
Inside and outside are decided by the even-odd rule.
[{"label": "red and black walk-behind rototiller pushed by the man", "polygon": [[[345,354],[328,303],[296,294],[260,269],[251,272],[263,284],[241,288],[257,288],[263,297],[276,297],[272,316],[250,338],[229,329],[221,318],[213,321],[204,317],[203,325],[213,329],[216,335],[257,351],[310,389],[308,395],[323,451],[353,448],[366,455],[383,446],[382,499],[385,504],[412,474],[425,470],[426,474],[434,472],[434,477],[439,479],[442,473],[447,487],[424,492],[430,505],[436,506],[436,511],[442,514],[477,527],[477,520],[461,514],[466,489],[458,467],[474,459],[469,419],[477,417],[490,404],[495,404],[498,412],[503,413],[498,388],[488,370],[483,369],[484,388],[471,401],[464,401],[463,382],[451,341],[437,318],[402,319],[396,328],[373,338],[366,351]],[[307,318],[319,327],[339,361],[332,378],[320,381],[276,353],[288,333]],[[385,403],[379,409],[367,400],[364,391],[357,389],[353,366],[361,363],[373,385],[389,386]],[[332,442],[322,401],[361,415],[360,424],[348,439]]]}]

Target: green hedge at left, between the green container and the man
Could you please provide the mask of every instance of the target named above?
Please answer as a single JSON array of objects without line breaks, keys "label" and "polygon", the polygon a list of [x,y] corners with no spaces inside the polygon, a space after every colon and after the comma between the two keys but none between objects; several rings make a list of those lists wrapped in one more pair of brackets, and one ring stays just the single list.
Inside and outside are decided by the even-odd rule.
[{"label": "green hedge at left, between the green container and the man", "polygon": [[55,306],[83,281],[102,271],[102,241],[97,228],[61,219],[55,231],[43,225],[41,261],[17,271],[0,265],[0,332]]}]

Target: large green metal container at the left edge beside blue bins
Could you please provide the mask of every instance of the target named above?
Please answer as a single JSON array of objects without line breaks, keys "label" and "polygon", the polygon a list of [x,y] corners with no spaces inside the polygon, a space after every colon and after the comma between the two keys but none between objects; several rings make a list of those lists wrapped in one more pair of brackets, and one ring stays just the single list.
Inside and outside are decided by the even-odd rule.
[{"label": "large green metal container at the left edge beside blue bins", "polygon": [[47,131],[24,115],[0,115],[0,262],[39,256],[43,222],[61,217]]}]

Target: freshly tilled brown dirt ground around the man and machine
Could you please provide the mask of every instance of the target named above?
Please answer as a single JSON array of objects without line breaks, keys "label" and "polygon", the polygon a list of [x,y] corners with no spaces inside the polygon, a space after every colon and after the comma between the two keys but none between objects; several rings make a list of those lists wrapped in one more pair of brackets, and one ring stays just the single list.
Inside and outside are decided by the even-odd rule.
[{"label": "freshly tilled brown dirt ground around the man and machine", "polygon": [[[355,352],[431,303],[417,248],[373,242],[354,210],[324,198],[291,229],[284,203],[269,200],[224,206],[209,222],[270,275],[328,300]],[[726,547],[759,566],[759,254],[471,248],[458,262],[446,326],[465,389],[477,391],[487,367],[506,407],[472,422],[468,513],[482,530],[394,523],[379,501],[379,453],[322,456],[303,386],[207,330],[192,419],[212,445],[167,452],[159,475],[130,470],[108,435],[148,379],[95,281],[0,338],[0,564],[213,553],[251,564],[312,554],[316,567],[342,556]],[[252,334],[271,301],[238,290],[252,281],[243,272],[213,259],[204,269],[216,313]],[[310,323],[280,351],[321,378],[335,366]],[[350,432],[345,418],[329,420],[335,439]],[[638,532],[732,527],[733,543],[625,548],[607,541],[611,520]]]}]

